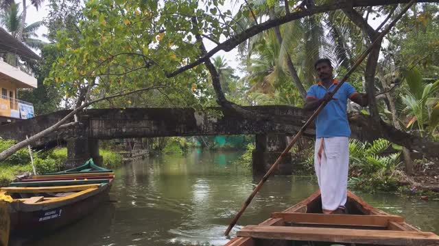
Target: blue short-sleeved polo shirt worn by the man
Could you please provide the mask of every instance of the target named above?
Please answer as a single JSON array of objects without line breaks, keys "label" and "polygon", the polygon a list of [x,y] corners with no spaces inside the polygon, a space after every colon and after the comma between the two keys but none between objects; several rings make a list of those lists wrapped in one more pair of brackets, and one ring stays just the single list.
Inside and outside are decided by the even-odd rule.
[{"label": "blue short-sleeved polo shirt worn by the man", "polygon": [[[332,92],[337,84],[338,81],[334,80],[329,89],[324,87],[321,82],[312,85],[307,92],[307,98],[323,98],[324,94]],[[328,102],[316,118],[317,138],[351,137],[346,107],[348,98],[352,98],[355,94],[357,94],[355,88],[347,82],[343,83],[342,87],[335,92],[333,98],[337,98],[337,100]]]}]

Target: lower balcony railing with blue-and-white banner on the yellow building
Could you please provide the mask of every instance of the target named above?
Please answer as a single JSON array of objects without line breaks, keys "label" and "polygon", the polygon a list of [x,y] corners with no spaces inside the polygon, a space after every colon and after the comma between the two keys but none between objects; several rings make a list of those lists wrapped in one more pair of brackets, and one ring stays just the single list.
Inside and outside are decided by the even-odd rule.
[{"label": "lower balcony railing with blue-and-white banner on the yellow building", "polygon": [[9,96],[0,96],[0,116],[29,119],[34,117],[34,105]]}]

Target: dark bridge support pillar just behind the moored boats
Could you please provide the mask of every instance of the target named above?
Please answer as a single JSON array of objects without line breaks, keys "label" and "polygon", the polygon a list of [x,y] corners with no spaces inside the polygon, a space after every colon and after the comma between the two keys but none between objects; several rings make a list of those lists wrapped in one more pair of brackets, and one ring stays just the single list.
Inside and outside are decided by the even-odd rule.
[{"label": "dark bridge support pillar just behind the moored boats", "polygon": [[67,169],[78,167],[90,158],[93,158],[95,164],[102,165],[98,139],[88,139],[88,137],[67,139]]}]

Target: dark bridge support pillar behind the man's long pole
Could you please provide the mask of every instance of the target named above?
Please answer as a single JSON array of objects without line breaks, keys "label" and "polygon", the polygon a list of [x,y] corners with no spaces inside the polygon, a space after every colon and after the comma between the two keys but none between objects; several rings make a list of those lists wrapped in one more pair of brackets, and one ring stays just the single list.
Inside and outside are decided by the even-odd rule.
[{"label": "dark bridge support pillar behind the man's long pole", "polygon": [[[253,174],[265,174],[271,165],[281,155],[287,147],[285,134],[258,134],[256,135],[256,148],[252,152],[252,169]],[[274,174],[289,175],[292,174],[292,157],[287,155],[279,163]]]}]

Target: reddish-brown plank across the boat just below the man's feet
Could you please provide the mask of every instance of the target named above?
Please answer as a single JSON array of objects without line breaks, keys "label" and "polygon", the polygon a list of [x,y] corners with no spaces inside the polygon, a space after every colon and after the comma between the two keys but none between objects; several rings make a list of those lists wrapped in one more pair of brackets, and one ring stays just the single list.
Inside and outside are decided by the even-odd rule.
[{"label": "reddish-brown plank across the boat just below the man's feet", "polygon": [[324,215],[317,213],[272,213],[272,218],[282,218],[292,223],[319,223],[341,226],[384,226],[389,221],[403,222],[403,217],[396,215]]}]

